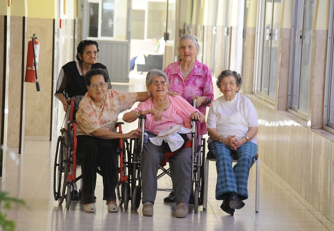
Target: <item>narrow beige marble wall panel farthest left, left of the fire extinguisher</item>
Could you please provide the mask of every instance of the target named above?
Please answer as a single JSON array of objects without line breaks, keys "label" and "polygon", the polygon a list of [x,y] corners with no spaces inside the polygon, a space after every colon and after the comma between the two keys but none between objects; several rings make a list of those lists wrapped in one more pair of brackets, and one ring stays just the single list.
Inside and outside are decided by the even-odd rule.
[{"label": "narrow beige marble wall panel farthest left, left of the fire extinguisher", "polygon": [[20,141],[21,86],[22,86],[22,36],[23,17],[10,16],[10,60],[8,93],[9,148],[18,148]]}]

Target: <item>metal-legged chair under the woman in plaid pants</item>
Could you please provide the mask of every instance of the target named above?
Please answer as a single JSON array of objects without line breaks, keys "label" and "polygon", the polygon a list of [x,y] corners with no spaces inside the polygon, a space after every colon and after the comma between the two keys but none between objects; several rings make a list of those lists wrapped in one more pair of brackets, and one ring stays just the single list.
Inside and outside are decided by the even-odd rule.
[{"label": "metal-legged chair under the woman in plaid pants", "polygon": [[[232,154],[233,162],[237,162],[237,157],[235,154]],[[208,203],[208,180],[209,180],[209,160],[216,161],[215,157],[209,151],[205,161],[205,175],[204,175],[204,194],[203,194],[203,209],[207,208]],[[259,178],[260,178],[260,159],[258,159],[258,154],[255,155],[256,163],[256,191],[255,191],[255,212],[258,213],[259,207]]]}]

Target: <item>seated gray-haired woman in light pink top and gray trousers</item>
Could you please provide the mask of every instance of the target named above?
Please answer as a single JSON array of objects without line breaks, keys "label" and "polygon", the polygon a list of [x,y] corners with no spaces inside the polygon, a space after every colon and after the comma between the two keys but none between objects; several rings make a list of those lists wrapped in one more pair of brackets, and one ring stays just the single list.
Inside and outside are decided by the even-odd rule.
[{"label": "seated gray-haired woman in light pink top and gray trousers", "polygon": [[179,146],[174,146],[171,142],[161,142],[159,138],[176,135],[176,132],[180,133],[181,130],[187,133],[190,131],[190,121],[195,119],[203,122],[205,115],[193,108],[182,97],[168,96],[166,94],[168,83],[168,76],[163,71],[153,69],[147,73],[146,88],[152,97],[139,103],[134,111],[125,113],[123,120],[132,122],[140,115],[146,116],[144,127],[149,140],[144,143],[140,161],[143,216],[153,216],[154,213],[153,205],[157,194],[157,172],[160,161],[165,158],[165,152],[177,149],[169,158],[177,202],[176,217],[187,217],[192,173],[192,150],[184,148],[184,144],[188,141],[187,135],[179,136],[179,139],[183,139]]}]

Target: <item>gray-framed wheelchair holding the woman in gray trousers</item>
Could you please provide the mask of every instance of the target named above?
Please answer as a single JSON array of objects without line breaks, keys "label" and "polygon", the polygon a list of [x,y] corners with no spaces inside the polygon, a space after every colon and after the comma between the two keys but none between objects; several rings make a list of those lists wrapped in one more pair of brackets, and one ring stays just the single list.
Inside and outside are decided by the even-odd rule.
[{"label": "gray-framed wheelchair holding the woman in gray trousers", "polygon": [[[196,99],[194,99],[193,106],[196,108]],[[144,122],[146,116],[139,116],[139,127],[144,131]],[[198,206],[203,205],[203,194],[204,194],[204,176],[205,176],[205,138],[202,138],[201,135],[197,134],[197,125],[196,121],[191,121],[192,131],[191,131],[191,147],[192,147],[192,174],[191,174],[191,195],[190,195],[190,204],[194,204],[194,212],[198,212]],[[147,137],[146,137],[147,138]],[[130,140],[130,150],[132,151],[132,162],[130,166],[130,180],[132,193],[131,193],[131,210],[137,211],[141,201],[141,172],[140,172],[140,156],[142,155],[142,148],[144,145],[144,132],[141,133],[139,139]],[[159,165],[159,169],[162,171],[157,176],[157,179],[161,178],[164,175],[171,176],[170,169],[166,169],[163,166],[163,162],[166,159],[162,160]],[[158,188],[158,191],[173,191],[173,189],[167,188]]]}]

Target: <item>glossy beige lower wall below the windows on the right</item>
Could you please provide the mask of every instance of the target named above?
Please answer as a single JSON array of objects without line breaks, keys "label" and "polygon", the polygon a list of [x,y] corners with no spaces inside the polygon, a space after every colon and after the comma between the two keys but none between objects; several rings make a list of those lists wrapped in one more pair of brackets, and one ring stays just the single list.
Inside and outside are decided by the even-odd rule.
[{"label": "glossy beige lower wall below the windows on the right", "polygon": [[[296,122],[288,112],[277,112],[272,104],[251,98],[258,116],[258,153],[263,167],[291,187],[290,191],[310,211],[334,222],[334,142],[328,136]],[[322,218],[323,217],[323,218]]]}]

